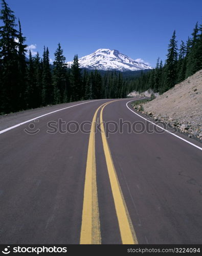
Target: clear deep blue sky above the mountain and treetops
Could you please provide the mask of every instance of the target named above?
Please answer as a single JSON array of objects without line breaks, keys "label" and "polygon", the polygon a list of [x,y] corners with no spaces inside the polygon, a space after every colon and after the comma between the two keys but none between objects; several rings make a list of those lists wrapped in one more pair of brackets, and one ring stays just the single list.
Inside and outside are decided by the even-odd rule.
[{"label": "clear deep blue sky above the mountain and treetops", "polygon": [[187,40],[198,21],[201,0],[6,0],[20,18],[27,45],[50,58],[60,42],[66,61],[99,48],[117,49],[155,66],[165,60],[172,32]]}]

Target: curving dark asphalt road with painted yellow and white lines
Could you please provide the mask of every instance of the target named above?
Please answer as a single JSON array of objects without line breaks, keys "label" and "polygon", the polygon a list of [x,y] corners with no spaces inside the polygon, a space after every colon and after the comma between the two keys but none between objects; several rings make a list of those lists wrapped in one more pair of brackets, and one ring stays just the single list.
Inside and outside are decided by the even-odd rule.
[{"label": "curving dark asphalt road with painted yellow and white lines", "polygon": [[156,132],[128,101],[69,103],[0,134],[1,244],[202,243],[201,143]]}]

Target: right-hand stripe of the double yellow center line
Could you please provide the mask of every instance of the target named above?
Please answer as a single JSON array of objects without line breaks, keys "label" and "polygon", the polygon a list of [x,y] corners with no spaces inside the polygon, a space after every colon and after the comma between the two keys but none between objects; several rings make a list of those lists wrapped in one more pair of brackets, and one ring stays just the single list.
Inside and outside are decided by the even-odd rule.
[{"label": "right-hand stripe of the double yellow center line", "polygon": [[120,187],[119,180],[114,167],[113,159],[111,158],[111,153],[110,153],[107,139],[105,136],[102,113],[103,113],[104,107],[109,103],[110,102],[107,102],[106,104],[103,105],[103,108],[100,112],[100,123],[101,123],[101,131],[102,131],[101,133],[102,143],[103,143],[104,154],[106,158],[109,180],[111,184],[111,190],[114,197],[117,218],[119,222],[121,239],[123,244],[138,244],[136,233],[134,232],[134,229],[132,226],[132,222],[131,222],[129,212],[121,191],[121,187]]}]

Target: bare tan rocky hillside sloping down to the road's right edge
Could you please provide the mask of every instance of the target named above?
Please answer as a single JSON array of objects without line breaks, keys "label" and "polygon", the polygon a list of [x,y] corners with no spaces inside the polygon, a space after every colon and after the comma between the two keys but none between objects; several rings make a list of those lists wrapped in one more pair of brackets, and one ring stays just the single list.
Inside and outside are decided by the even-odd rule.
[{"label": "bare tan rocky hillside sloping down to the road's right edge", "polygon": [[[140,106],[136,109],[141,110]],[[143,105],[144,113],[202,140],[202,70]]]}]

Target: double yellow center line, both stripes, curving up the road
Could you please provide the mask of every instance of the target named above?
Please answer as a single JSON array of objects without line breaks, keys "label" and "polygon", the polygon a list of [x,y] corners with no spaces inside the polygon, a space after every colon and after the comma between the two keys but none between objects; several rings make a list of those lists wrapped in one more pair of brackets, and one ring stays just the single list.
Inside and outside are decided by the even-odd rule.
[{"label": "double yellow center line, both stripes, curving up the road", "polygon": [[121,239],[123,244],[138,244],[136,233],[134,232],[132,222],[128,213],[128,209],[121,191],[119,180],[114,167],[113,159],[107,143],[107,139],[104,131],[103,124],[103,109],[105,106],[113,101],[102,104],[96,110],[91,125],[91,133],[89,136],[86,173],[85,173],[85,185],[84,185],[84,198],[83,198],[83,211],[82,211],[82,224],[80,234],[80,244],[101,244],[100,233],[100,219],[99,219],[99,207],[98,207],[98,193],[96,182],[96,157],[95,157],[95,128],[96,117],[100,108],[100,123],[101,123],[101,136],[104,148],[104,155],[106,159],[106,165],[113,193],[116,214],[119,223],[119,229],[121,233]]}]

